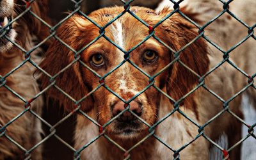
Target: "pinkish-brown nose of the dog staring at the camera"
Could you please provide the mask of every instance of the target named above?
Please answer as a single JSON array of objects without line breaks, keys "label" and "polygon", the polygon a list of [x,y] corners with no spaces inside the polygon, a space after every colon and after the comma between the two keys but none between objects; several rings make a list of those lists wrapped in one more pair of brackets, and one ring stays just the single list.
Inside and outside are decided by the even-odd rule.
[{"label": "pinkish-brown nose of the dog staring at the camera", "polygon": [[[124,102],[118,102],[115,104],[112,110],[112,115],[116,116],[125,109],[125,103]],[[131,102],[130,103],[130,110],[135,113],[138,116],[141,116],[142,109],[140,104],[138,102]],[[132,115],[129,111],[125,111],[122,115],[118,116],[116,119],[120,122],[131,122],[132,120],[136,120],[136,116]]]}]

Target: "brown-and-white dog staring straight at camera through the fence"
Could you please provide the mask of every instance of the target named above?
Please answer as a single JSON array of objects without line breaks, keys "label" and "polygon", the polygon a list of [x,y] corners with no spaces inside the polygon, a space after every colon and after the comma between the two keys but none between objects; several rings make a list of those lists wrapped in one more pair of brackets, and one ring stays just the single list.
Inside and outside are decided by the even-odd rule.
[{"label": "brown-and-white dog staring straight at camera through the fence", "polygon": [[[209,7],[209,10],[219,12],[215,10],[216,8],[211,9],[211,1],[202,1],[202,3]],[[180,10],[188,15],[195,15],[195,20],[204,20],[203,13],[193,13],[189,10],[189,7],[192,7],[196,11],[198,3],[189,4],[191,6],[180,8]],[[58,28],[57,35],[76,51],[80,51],[84,46],[87,46],[86,49],[77,55],[69,47],[54,40],[40,65],[42,69],[54,76],[52,79],[49,75],[42,75],[42,87],[45,88],[51,83],[58,86],[58,88],[51,87],[45,95],[58,102],[59,106],[67,111],[74,112],[79,107],[96,121],[93,123],[84,115],[77,114],[74,148],[79,152],[75,157],[171,159],[174,156],[180,159],[209,159],[212,143],[205,136],[216,141],[223,133],[227,134],[228,147],[235,145],[241,140],[242,124],[227,111],[203,129],[193,122],[202,126],[223,111],[223,107],[227,109],[227,106],[230,111],[243,118],[240,108],[241,96],[225,103],[225,100],[230,99],[243,88],[243,83],[240,83],[244,80],[243,76],[237,74],[237,70],[228,63],[223,63],[217,70],[200,79],[223,60],[223,55],[216,54],[218,50],[211,47],[204,38],[195,40],[199,35],[198,28],[182,18],[179,13],[174,13],[154,28],[154,35],[162,42],[150,37],[134,49],[134,46],[140,44],[152,33],[152,26],[164,19],[172,9],[163,8],[155,12],[148,8],[134,6],[130,10],[149,26],[134,19],[129,13],[125,13],[102,31],[83,16],[72,16]],[[97,10],[88,17],[99,26],[105,26],[122,12],[124,8],[116,6]],[[223,19],[226,20],[226,17]],[[227,21],[228,24],[232,23],[228,18]],[[106,38],[98,37],[103,33],[120,49]],[[93,40],[95,42],[91,43]],[[189,44],[193,40],[195,41]],[[186,67],[177,61],[170,64],[177,57],[166,46],[179,51],[186,44],[189,45],[178,56],[179,61]],[[126,54],[121,51],[131,49],[134,50],[125,52]],[[123,65],[115,68],[120,63]],[[140,67],[147,74],[143,74],[134,66]],[[166,66],[168,67],[164,68]],[[161,74],[158,75],[160,71]],[[105,77],[109,72],[110,74]],[[154,79],[149,78],[154,75],[157,75]],[[100,78],[102,76],[105,78]],[[232,81],[235,78],[236,81]],[[200,86],[188,95],[200,83],[204,83],[209,89],[206,90]],[[212,92],[223,101],[217,99]],[[182,99],[182,97],[186,98]],[[129,111],[125,110],[128,108]],[[179,111],[166,117],[172,113],[173,108],[179,108]],[[153,128],[148,127],[155,125],[159,120],[163,121]],[[106,125],[109,121],[111,123]],[[98,125],[95,125],[97,123]],[[157,138],[152,136],[152,131]],[[196,138],[198,134],[203,134],[202,132],[204,137]],[[97,138],[99,135],[102,136]],[[115,141],[119,147],[115,147],[116,145],[109,139]],[[191,144],[186,146],[188,143]],[[182,148],[183,146],[185,147]],[[230,152],[227,152],[227,148],[224,147],[221,151],[225,158],[229,154],[230,159],[240,159],[240,150],[241,146],[237,145]]]}]

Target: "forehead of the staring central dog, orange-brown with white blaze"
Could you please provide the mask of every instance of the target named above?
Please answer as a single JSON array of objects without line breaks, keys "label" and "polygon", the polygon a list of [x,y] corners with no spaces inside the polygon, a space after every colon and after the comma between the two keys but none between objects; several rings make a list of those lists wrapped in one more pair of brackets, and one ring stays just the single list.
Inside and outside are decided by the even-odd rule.
[{"label": "forehead of the staring central dog, orange-brown with white blaze", "polygon": [[[152,22],[151,17],[157,15],[154,10],[138,6],[131,7],[130,11],[146,22]],[[99,26],[108,25],[104,28],[105,35],[122,49],[129,50],[148,36],[148,28],[131,13],[123,12],[124,7],[103,8],[92,12],[90,17]],[[122,15],[118,17],[120,14]],[[113,20],[115,17],[118,19]]]}]

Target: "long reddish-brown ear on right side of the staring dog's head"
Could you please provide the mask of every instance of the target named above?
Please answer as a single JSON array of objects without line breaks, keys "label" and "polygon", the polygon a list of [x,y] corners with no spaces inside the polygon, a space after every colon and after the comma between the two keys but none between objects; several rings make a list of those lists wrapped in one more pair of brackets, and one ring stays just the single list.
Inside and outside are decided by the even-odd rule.
[{"label": "long reddish-brown ear on right side of the staring dog's head", "polygon": [[[168,13],[170,13],[170,11],[164,8],[159,15],[165,17]],[[188,20],[183,19],[177,13],[165,20],[163,24],[159,26],[159,29],[159,32],[162,33],[159,35],[162,36],[160,38],[175,51],[179,51],[199,35],[198,28],[190,24]],[[174,59],[173,54],[174,53],[170,51],[172,60]],[[199,38],[188,45],[184,51],[180,52],[180,61],[198,75],[204,75],[209,68],[208,49],[204,38]],[[169,81],[167,83],[168,95],[175,100],[179,100],[198,84],[198,80],[199,78],[189,71],[188,68],[184,67],[179,62],[175,62],[172,67],[170,67]]]}]

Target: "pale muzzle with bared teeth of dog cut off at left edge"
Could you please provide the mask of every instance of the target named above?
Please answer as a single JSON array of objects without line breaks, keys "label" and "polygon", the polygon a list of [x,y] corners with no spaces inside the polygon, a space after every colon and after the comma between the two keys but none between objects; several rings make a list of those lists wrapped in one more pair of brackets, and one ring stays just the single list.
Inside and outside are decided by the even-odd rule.
[{"label": "pale muzzle with bared teeth of dog cut off at left edge", "polygon": [[14,1],[13,0],[3,0],[0,1],[0,52],[7,51],[12,47],[12,43],[4,38],[4,35],[8,36],[10,40],[15,40],[16,33],[12,29],[12,25],[7,26],[7,24],[12,20],[14,12]]}]

